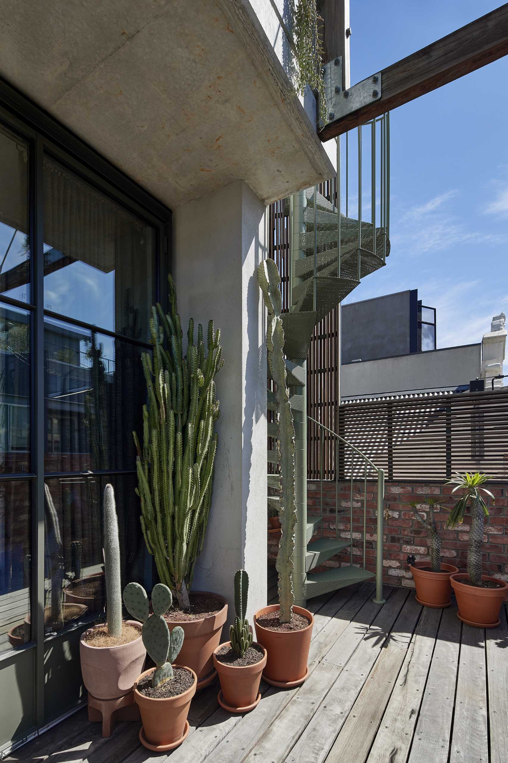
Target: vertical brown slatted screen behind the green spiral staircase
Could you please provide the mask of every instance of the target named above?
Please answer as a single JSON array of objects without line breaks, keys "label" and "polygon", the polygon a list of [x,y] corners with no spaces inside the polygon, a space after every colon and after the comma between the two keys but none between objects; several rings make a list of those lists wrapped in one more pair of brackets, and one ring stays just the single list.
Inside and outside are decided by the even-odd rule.
[{"label": "vertical brown slatted screen behind the green spiral staircase", "polygon": [[[317,186],[317,190],[336,204],[335,178]],[[289,206],[289,205],[288,205]],[[290,262],[290,227],[289,211],[285,199],[275,201],[269,207],[269,247],[268,256],[275,259],[281,275],[282,309],[289,309],[289,269]],[[307,357],[307,414],[320,421],[334,432],[337,431],[337,314],[335,308],[323,318],[314,330],[309,355]],[[273,388],[268,381],[268,387]],[[268,421],[272,421],[272,412],[268,411]],[[307,427],[307,477],[316,479],[320,475],[320,450],[318,427]],[[272,439],[268,439],[268,448],[273,449]],[[273,468],[268,466],[268,472]],[[335,478],[335,457],[333,437],[326,436],[323,447],[323,478]]]}]

